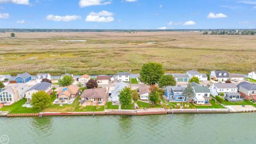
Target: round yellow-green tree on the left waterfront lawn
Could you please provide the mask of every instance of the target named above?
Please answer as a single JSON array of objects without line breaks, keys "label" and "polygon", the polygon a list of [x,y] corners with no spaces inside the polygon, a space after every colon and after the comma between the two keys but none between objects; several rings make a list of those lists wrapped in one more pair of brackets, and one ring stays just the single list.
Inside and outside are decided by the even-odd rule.
[{"label": "round yellow-green tree on the left waterfront lawn", "polygon": [[43,107],[47,106],[49,102],[50,95],[45,91],[39,91],[32,94],[31,105],[35,108],[42,109]]}]

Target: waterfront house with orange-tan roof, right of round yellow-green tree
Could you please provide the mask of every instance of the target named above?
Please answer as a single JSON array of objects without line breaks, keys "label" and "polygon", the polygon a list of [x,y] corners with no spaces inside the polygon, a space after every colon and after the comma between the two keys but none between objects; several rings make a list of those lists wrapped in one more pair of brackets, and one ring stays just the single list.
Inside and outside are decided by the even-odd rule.
[{"label": "waterfront house with orange-tan roof, right of round yellow-green tree", "polygon": [[[79,94],[79,87],[76,85],[69,85],[61,87],[61,89],[56,93],[57,101],[59,103],[73,103]],[[56,100],[54,103],[58,103]]]}]

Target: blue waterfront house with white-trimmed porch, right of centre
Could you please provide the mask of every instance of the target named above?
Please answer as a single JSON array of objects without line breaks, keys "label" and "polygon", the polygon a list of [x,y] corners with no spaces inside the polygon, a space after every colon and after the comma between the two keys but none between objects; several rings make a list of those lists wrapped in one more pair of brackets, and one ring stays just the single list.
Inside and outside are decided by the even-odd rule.
[{"label": "blue waterfront house with white-trimmed porch, right of centre", "polygon": [[185,102],[187,101],[187,97],[183,97],[184,87],[178,86],[167,86],[165,88],[165,97],[168,101],[174,102]]}]

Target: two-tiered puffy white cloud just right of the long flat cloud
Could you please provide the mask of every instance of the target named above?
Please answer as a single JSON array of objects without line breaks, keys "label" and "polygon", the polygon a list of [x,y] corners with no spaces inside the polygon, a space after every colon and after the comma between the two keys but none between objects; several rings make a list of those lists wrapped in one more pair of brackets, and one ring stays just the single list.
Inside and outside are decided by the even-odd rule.
[{"label": "two-tiered puffy white cloud just right of the long flat cloud", "polygon": [[101,11],[99,13],[91,12],[87,15],[85,21],[88,22],[111,22],[114,21],[113,13],[108,11]]}]

